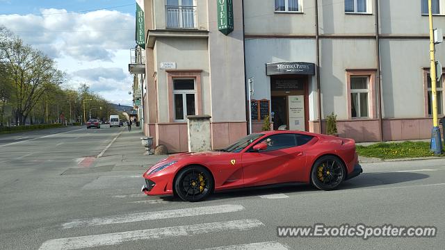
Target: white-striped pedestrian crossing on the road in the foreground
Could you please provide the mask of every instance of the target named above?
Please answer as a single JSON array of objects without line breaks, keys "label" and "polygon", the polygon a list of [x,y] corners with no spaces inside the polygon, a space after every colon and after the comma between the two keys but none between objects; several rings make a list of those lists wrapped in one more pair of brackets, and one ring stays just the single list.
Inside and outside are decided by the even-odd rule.
[{"label": "white-striped pedestrian crossing on the road in the foreground", "polygon": [[[81,232],[92,232],[92,229],[97,228],[99,231],[101,226],[113,225],[113,228],[119,228],[119,225],[127,225],[129,223],[156,221],[162,222],[163,219],[179,219],[191,217],[207,219],[207,223],[187,224],[181,226],[167,226],[158,228],[143,228],[136,231],[118,231],[114,233],[92,234],[92,235],[76,235],[69,238],[58,238],[47,240],[40,246],[40,250],[68,250],[68,249],[84,249],[91,247],[118,247],[120,244],[128,244],[140,240],[150,241],[165,240],[165,239],[179,239],[185,237],[195,237],[202,239],[200,235],[207,235],[211,233],[237,233],[243,231],[255,231],[264,228],[266,225],[259,219],[255,218],[238,218],[230,216],[234,213],[245,212],[246,208],[239,204],[223,204],[215,206],[196,206],[193,208],[181,208],[174,210],[158,210],[145,213],[130,213],[127,215],[113,215],[107,217],[92,217],[83,219],[72,219],[68,222],[60,224],[63,231],[70,231],[76,228],[86,228],[79,230]],[[213,221],[214,215],[224,215],[227,218],[225,221]],[[218,217],[215,217],[218,218]],[[232,220],[232,219],[233,220]],[[210,222],[209,222],[209,219]],[[215,219],[218,220],[218,219]],[[196,222],[202,222],[198,220]],[[150,223],[151,224],[151,223]],[[159,225],[159,224],[158,224]],[[88,229],[87,229],[88,228]],[[128,227],[127,227],[128,229]],[[113,229],[114,230],[114,229]],[[72,232],[72,231],[71,231]],[[70,235],[71,236],[71,235]],[[199,241],[199,240],[197,240]],[[244,242],[245,243],[245,242]],[[199,244],[197,245],[199,246]],[[195,247],[201,249],[201,247]],[[211,250],[250,250],[250,249],[288,249],[284,244],[279,242],[252,242],[248,244],[238,244],[226,246],[214,246]],[[209,250],[209,249],[206,249]]]}]

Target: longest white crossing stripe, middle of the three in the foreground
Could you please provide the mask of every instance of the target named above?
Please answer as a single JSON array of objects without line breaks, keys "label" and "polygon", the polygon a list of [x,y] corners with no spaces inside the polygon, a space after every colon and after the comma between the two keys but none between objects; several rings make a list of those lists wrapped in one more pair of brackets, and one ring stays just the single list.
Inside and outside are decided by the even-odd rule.
[{"label": "longest white crossing stripe, middle of the three in the foreground", "polygon": [[83,249],[87,247],[102,247],[122,244],[135,240],[159,240],[172,237],[199,235],[204,233],[218,233],[222,231],[246,231],[264,226],[258,219],[239,219],[229,222],[211,222],[204,224],[171,226],[165,228],[152,228],[138,231],[120,233],[106,233],[102,235],[87,235],[73,238],[60,238],[47,240],[40,246],[40,250],[47,249]]}]

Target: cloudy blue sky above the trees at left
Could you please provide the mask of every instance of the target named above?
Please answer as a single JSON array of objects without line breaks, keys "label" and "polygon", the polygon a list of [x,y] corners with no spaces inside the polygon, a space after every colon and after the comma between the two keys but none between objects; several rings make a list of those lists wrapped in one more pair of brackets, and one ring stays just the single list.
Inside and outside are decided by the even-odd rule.
[{"label": "cloudy blue sky above the trees at left", "polygon": [[0,25],[53,58],[65,88],[131,104],[135,12],[135,0],[0,0]]}]

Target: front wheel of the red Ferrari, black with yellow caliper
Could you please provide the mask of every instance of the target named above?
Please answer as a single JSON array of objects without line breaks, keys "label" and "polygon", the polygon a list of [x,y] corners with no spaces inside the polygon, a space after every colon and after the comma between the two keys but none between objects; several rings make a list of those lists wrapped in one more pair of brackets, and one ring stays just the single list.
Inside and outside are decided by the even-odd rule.
[{"label": "front wheel of the red Ferrari, black with yellow caliper", "polygon": [[175,178],[175,192],[184,201],[203,201],[213,192],[213,176],[201,166],[184,167]]}]

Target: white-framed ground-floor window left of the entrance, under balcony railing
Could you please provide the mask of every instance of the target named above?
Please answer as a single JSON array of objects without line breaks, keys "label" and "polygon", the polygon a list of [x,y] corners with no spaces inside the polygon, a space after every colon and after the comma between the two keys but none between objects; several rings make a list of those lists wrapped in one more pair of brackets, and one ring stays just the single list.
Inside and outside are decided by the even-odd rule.
[{"label": "white-framed ground-floor window left of the entrance, under balcony railing", "polygon": [[195,79],[173,79],[173,101],[175,103],[175,122],[185,122],[187,115],[196,115],[197,94]]}]

